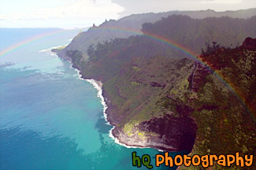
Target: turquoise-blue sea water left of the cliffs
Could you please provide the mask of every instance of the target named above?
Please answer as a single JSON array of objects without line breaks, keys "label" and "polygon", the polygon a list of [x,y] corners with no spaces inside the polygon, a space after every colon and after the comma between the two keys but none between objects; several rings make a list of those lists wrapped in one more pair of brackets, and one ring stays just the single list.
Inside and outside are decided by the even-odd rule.
[{"label": "turquoise-blue sea water left of the cliffs", "polygon": [[[0,49],[52,30],[0,29]],[[80,80],[70,63],[49,50],[40,52],[69,43],[78,31],[0,56],[1,169],[147,169],[132,167],[133,151],[150,154],[154,166],[158,150],[114,143],[96,89]]]}]

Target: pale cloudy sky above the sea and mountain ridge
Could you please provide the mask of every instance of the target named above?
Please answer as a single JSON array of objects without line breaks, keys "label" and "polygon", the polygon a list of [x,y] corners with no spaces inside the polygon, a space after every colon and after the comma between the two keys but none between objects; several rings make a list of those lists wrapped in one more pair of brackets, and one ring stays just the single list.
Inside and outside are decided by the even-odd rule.
[{"label": "pale cloudy sky above the sea and mountain ridge", "polygon": [[0,0],[0,27],[91,27],[133,13],[250,9],[255,0]]}]

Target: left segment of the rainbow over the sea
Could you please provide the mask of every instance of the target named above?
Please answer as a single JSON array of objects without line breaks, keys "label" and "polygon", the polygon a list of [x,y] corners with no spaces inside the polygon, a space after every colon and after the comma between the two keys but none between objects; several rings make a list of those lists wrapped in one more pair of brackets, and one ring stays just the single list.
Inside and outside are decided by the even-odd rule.
[{"label": "left segment of the rainbow over the sea", "polygon": [[32,42],[39,41],[40,39],[48,38],[50,36],[53,36],[55,34],[61,34],[63,32],[65,32],[65,30],[54,29],[52,31],[46,31],[46,32],[43,32],[41,34],[35,34],[34,36],[32,36],[30,38],[26,38],[26,39],[24,39],[20,42],[17,42],[13,45],[10,45],[6,49],[3,49],[2,51],[0,51],[0,57],[6,56],[7,54],[9,54],[9,52],[14,52],[17,49],[21,49],[22,47],[24,47],[24,45],[28,45],[28,44],[31,44]]}]

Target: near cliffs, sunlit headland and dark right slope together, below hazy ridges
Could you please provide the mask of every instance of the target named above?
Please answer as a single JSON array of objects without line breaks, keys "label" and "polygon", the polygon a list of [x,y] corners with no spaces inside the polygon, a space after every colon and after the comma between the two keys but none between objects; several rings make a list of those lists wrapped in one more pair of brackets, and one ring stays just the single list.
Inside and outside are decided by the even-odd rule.
[{"label": "near cliffs, sunlit headland and dark right slope together, below hazy ridges", "polygon": [[215,73],[187,59],[141,57],[106,81],[113,136],[191,154],[253,154],[255,51],[218,47],[200,57]]}]

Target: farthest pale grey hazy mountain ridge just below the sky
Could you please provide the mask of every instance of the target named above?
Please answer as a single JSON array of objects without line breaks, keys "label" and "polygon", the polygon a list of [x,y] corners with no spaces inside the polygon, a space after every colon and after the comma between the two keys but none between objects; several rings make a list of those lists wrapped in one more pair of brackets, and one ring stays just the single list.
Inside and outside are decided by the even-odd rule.
[{"label": "farthest pale grey hazy mountain ridge just below the sky", "polygon": [[87,60],[87,49],[89,45],[97,45],[98,42],[103,42],[113,38],[128,38],[131,35],[143,34],[141,28],[144,23],[154,23],[157,20],[161,20],[162,17],[172,16],[174,14],[191,16],[195,19],[221,16],[246,19],[251,16],[255,16],[256,9],[226,12],[215,12],[208,9],[202,11],[171,11],[167,13],[134,14],[121,18],[120,20],[106,21],[98,27],[91,27],[88,31],[81,32],[65,49],[59,52],[59,56],[70,60],[69,53],[67,53],[67,51],[77,50],[81,52],[83,60]]}]

